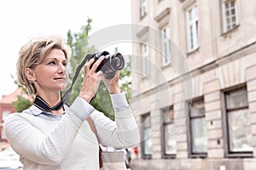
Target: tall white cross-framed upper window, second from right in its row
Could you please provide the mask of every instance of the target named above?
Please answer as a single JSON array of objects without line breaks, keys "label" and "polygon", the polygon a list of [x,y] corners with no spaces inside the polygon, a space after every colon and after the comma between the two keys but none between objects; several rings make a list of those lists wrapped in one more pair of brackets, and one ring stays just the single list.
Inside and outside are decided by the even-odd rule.
[{"label": "tall white cross-framed upper window, second from right in its row", "polygon": [[186,12],[187,18],[187,39],[189,52],[199,47],[198,42],[198,9],[194,4]]}]

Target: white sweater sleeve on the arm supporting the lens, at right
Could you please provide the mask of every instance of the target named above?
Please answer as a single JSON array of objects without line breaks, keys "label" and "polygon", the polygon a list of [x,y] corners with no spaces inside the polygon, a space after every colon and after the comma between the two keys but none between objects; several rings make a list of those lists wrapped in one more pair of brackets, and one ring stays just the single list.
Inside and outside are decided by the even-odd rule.
[{"label": "white sweater sleeve on the arm supporting the lens, at right", "polygon": [[114,122],[99,111],[94,111],[90,115],[99,142],[115,148],[136,146],[140,143],[140,134],[125,94],[111,94],[111,99],[115,113]]}]

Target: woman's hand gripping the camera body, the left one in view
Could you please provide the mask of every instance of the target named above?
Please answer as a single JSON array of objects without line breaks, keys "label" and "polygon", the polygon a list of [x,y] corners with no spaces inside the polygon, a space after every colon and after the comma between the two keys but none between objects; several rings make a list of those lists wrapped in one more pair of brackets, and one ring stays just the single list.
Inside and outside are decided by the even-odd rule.
[{"label": "woman's hand gripping the camera body, the left one in view", "polygon": [[[84,66],[84,80],[79,96],[88,103],[96,95],[100,82],[104,77],[102,71],[96,72],[97,67],[102,63],[104,58],[104,56],[101,56],[96,60],[95,64],[93,64],[94,59],[90,59]],[[90,65],[92,65],[91,68]]]}]

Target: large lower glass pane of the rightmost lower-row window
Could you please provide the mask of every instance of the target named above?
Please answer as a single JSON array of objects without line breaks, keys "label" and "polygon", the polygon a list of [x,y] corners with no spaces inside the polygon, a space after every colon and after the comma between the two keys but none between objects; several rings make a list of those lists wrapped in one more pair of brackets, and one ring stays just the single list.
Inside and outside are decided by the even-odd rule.
[{"label": "large lower glass pane of the rightmost lower-row window", "polygon": [[228,114],[230,151],[253,151],[251,123],[247,109],[230,111]]}]

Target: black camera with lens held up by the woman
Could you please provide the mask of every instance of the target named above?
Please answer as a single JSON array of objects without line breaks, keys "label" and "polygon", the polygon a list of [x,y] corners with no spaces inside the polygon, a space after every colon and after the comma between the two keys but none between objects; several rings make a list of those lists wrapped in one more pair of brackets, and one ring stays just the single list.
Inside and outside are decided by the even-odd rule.
[{"label": "black camera with lens held up by the woman", "polygon": [[[105,59],[102,60],[102,63],[97,67],[97,71],[102,71],[104,77],[106,78],[113,78],[116,71],[121,71],[125,66],[125,59],[122,54],[109,54],[107,51],[103,52],[96,52],[93,54],[90,59],[95,59],[94,65],[96,60],[99,59],[102,55],[105,56]],[[91,66],[90,65],[90,68]]]}]

